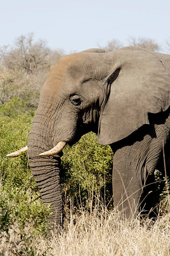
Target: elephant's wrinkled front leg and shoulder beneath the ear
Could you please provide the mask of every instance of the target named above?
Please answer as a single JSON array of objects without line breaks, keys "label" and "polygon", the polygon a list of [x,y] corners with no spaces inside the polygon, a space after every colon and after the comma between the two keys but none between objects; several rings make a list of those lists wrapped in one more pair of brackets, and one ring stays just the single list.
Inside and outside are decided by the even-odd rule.
[{"label": "elephant's wrinkled front leg and shoulder beneath the ear", "polygon": [[[113,198],[115,205],[127,218],[136,212],[155,216],[156,189],[154,172],[167,152],[170,118],[165,125],[141,128],[115,150],[113,157]],[[113,146],[112,146],[113,148]],[[169,163],[169,160],[167,160]]]}]

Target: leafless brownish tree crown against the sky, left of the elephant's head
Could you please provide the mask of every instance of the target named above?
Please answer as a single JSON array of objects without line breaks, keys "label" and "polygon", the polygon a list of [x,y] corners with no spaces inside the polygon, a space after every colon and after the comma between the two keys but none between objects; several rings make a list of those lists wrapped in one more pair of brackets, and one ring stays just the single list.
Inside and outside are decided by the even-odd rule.
[{"label": "leafless brownish tree crown against the sky, left of the elephant's head", "polygon": [[3,64],[9,69],[25,69],[29,73],[38,72],[42,68],[49,68],[63,56],[63,51],[52,51],[45,40],[34,42],[33,33],[20,36],[15,41],[15,48],[10,49],[3,57]]}]

